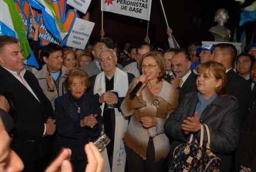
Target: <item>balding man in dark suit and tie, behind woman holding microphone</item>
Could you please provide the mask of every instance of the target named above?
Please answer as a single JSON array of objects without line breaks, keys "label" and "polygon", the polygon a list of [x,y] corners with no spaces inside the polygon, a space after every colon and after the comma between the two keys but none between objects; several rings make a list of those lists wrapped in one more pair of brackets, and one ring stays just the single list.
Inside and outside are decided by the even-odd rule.
[{"label": "balding man in dark suit and tie, behind woman holding microphone", "polygon": [[179,49],[175,52],[172,58],[172,70],[174,79],[179,80],[179,103],[184,98],[184,96],[191,92],[197,90],[197,75],[190,70],[191,60],[189,54],[183,50]]}]

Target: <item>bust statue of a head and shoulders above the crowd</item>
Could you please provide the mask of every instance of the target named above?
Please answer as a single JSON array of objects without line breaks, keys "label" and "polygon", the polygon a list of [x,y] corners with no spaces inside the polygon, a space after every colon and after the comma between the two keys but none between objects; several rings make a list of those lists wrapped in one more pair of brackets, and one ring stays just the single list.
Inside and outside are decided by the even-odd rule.
[{"label": "bust statue of a head and shoulders above the crowd", "polygon": [[226,9],[216,11],[214,20],[218,25],[209,29],[209,32],[214,35],[215,41],[229,41],[230,30],[225,27],[228,18],[228,11]]}]

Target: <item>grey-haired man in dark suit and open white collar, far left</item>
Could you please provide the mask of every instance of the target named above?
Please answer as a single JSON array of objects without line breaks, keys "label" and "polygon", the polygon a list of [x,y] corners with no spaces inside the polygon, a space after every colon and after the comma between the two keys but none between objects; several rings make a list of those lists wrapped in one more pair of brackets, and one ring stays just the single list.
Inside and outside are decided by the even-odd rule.
[{"label": "grey-haired man in dark suit and open white collar, far left", "polygon": [[0,36],[0,91],[8,91],[14,111],[12,149],[25,164],[24,171],[42,171],[50,154],[50,135],[55,131],[53,109],[36,77],[25,70],[16,38]]}]

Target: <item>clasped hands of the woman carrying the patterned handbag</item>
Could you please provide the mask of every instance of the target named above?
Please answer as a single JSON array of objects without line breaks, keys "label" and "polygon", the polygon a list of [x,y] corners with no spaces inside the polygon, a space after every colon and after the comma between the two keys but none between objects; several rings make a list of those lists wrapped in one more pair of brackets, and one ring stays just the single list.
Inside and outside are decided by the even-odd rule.
[{"label": "clasped hands of the woman carrying the patterned handbag", "polygon": [[198,132],[201,130],[201,123],[200,118],[198,115],[198,112],[195,112],[193,117],[187,117],[183,121],[183,124],[181,125],[181,128],[184,132],[184,134],[188,134],[189,132]]}]

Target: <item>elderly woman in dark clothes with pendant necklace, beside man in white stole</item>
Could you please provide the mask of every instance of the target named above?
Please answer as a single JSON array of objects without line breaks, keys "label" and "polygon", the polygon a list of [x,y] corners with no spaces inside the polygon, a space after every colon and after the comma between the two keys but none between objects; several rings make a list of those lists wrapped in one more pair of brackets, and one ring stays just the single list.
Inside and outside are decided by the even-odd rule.
[{"label": "elderly woman in dark clothes with pendant necklace, beside man in white stole", "polygon": [[65,82],[68,93],[55,100],[55,152],[61,147],[70,148],[74,171],[84,172],[87,165],[84,145],[99,137],[103,118],[98,101],[86,92],[90,81],[85,72],[73,69]]}]

